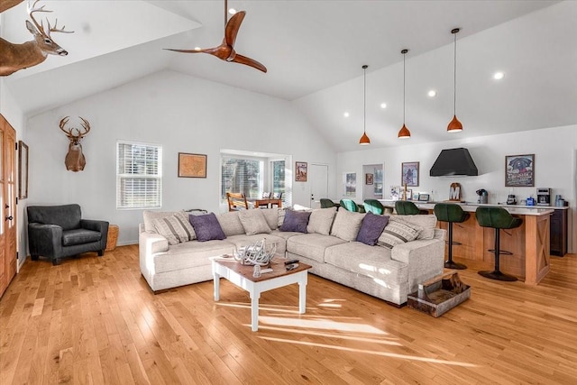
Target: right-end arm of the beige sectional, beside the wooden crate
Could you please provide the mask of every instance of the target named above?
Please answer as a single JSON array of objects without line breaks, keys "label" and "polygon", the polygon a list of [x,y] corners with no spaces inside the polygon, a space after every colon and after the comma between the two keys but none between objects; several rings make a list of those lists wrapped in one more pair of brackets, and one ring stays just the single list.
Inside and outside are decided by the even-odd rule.
[{"label": "right-end arm of the beige sectional, beside the wooden crate", "polygon": [[443,273],[444,240],[435,237],[398,244],[391,250],[390,258],[407,264],[410,294],[418,289],[419,283]]}]

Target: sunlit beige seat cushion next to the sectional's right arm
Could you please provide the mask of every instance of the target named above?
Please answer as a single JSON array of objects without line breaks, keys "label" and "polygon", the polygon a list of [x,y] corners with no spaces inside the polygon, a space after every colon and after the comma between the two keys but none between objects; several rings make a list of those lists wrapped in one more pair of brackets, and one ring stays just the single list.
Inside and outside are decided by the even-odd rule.
[{"label": "sunlit beige seat cushion next to the sectional's right arm", "polygon": [[[390,258],[390,250],[360,242],[335,245],[326,249],[325,263],[371,277],[375,285],[398,285],[408,281],[406,263]],[[384,283],[383,283],[384,282]]]}]

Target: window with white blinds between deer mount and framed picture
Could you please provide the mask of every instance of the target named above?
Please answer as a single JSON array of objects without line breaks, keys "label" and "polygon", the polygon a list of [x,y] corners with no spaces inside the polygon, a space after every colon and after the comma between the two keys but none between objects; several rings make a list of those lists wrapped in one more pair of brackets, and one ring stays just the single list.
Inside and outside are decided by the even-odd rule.
[{"label": "window with white blinds between deer mount and framed picture", "polygon": [[159,208],[162,191],[162,147],[116,143],[116,207]]}]

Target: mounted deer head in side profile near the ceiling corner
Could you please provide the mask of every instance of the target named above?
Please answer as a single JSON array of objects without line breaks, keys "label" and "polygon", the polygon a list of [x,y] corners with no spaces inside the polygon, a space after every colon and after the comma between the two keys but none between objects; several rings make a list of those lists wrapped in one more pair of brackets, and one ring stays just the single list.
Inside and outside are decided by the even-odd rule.
[{"label": "mounted deer head in side profile near the ceiling corner", "polygon": [[32,23],[26,20],[26,28],[34,36],[33,41],[26,41],[22,44],[13,44],[10,41],[5,41],[0,38],[0,76],[8,76],[19,69],[27,69],[29,67],[40,64],[46,60],[48,54],[66,56],[69,54],[55,41],[52,41],[50,32],[72,33],[72,31],[64,31],[64,28],[57,28],[58,19],[54,26],[50,26],[50,22],[46,19],[48,27],[44,29],[44,24],[36,22],[34,13],[36,12],[52,12],[45,11],[44,5],[36,7],[40,0],[34,1],[31,5],[28,3],[28,14],[32,19]]}]

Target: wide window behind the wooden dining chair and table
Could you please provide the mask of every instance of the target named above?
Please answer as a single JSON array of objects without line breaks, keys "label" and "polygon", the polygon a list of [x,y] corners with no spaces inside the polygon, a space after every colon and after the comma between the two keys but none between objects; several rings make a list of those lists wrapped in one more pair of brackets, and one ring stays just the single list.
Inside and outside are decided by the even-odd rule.
[{"label": "wide window behind the wooden dining chair and table", "polygon": [[262,194],[264,162],[223,155],[221,158],[221,197],[227,192],[244,193],[245,197],[257,198]]}]

